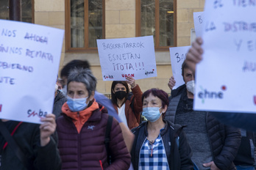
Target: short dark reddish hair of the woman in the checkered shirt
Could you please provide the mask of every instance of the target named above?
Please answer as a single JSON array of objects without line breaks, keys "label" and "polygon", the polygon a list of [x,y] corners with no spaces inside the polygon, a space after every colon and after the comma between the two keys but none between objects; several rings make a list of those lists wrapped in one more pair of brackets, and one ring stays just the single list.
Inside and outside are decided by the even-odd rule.
[{"label": "short dark reddish hair of the woman in the checkered shirt", "polygon": [[[148,89],[146,92],[143,92],[143,95],[141,97],[141,102],[143,103],[144,98],[149,97],[149,95],[152,94],[154,97],[160,98],[162,101],[162,108],[165,106],[169,106],[169,100],[168,100],[168,95],[166,92],[164,92],[162,89]],[[165,117],[165,113],[163,113],[163,117]]]}]

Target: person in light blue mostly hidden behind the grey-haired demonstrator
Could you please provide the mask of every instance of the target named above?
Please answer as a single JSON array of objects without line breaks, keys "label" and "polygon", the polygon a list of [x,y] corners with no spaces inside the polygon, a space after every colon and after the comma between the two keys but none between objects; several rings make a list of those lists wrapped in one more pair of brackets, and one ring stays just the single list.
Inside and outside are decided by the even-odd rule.
[{"label": "person in light blue mostly hidden behind the grey-haired demonstrator", "polygon": [[[71,62],[68,62],[68,64],[65,64],[65,66],[63,67],[60,73],[61,78],[63,79],[63,86],[64,86],[63,92],[65,94],[66,94],[65,84],[67,83],[68,74],[72,69],[76,67],[83,68],[83,69],[87,69],[87,68],[90,69],[90,64],[88,63],[88,61],[82,61],[79,59],[74,59]],[[115,108],[113,108],[113,104],[111,103],[111,101],[99,92],[95,92],[94,98],[97,101],[97,103],[107,108],[107,114],[117,119],[117,121],[119,122],[119,125],[121,126],[125,144],[127,144],[127,148],[130,151],[130,149],[132,149],[132,142],[134,139],[134,135],[130,132],[129,128],[126,125],[124,125],[124,122],[121,121],[120,117],[118,117],[118,114],[115,111]]]}]

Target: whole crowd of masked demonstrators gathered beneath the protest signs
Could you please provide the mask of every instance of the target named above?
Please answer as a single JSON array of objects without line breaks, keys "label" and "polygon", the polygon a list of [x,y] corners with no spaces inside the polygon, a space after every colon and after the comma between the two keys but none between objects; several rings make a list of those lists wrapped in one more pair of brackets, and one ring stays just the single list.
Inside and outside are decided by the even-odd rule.
[{"label": "whole crowd of masked demonstrators gathered beneath the protest signs", "polygon": [[[69,62],[42,125],[1,119],[10,138],[0,136],[0,170],[255,169],[255,114],[193,110],[201,45],[197,38],[182,64],[185,84],[172,90],[169,79],[171,97],[160,89],[142,94],[127,77],[113,81],[109,100],[96,92],[87,61]],[[141,116],[147,121],[140,124]]]}]

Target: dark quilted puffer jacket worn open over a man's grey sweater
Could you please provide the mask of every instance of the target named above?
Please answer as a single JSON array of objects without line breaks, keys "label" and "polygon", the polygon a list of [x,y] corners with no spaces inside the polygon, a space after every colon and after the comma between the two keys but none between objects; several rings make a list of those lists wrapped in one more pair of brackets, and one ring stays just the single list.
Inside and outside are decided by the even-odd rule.
[{"label": "dark quilted puffer jacket worn open over a man's grey sweater", "polygon": [[[171,122],[174,122],[180,95],[182,92],[185,92],[185,86],[180,86],[178,89],[179,92],[171,96],[171,101],[166,111],[165,118]],[[206,125],[214,163],[218,169],[235,169],[232,161],[235,159],[238,147],[240,146],[240,130],[221,124],[208,112]]]}]

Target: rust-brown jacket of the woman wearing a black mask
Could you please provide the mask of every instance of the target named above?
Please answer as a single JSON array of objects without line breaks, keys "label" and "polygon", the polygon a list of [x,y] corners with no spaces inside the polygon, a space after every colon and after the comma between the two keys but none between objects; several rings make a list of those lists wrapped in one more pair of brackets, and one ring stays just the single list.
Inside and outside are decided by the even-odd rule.
[{"label": "rust-brown jacket of the woman wearing a black mask", "polygon": [[[125,101],[125,116],[127,118],[127,125],[129,129],[137,127],[140,124],[140,117],[142,111],[142,92],[140,86],[138,84],[132,88],[132,97],[129,97]],[[114,104],[115,111],[118,112],[117,105]],[[133,108],[133,110],[132,110]]]}]

